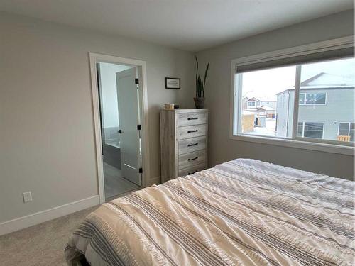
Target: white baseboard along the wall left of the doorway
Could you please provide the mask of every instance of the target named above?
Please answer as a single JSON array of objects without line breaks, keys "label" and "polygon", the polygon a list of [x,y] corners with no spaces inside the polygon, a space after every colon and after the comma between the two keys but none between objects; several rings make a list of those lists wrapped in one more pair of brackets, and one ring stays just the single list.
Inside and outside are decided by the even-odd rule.
[{"label": "white baseboard along the wall left of the doorway", "polygon": [[87,199],[80,199],[79,201],[74,201],[69,204],[57,206],[52,209],[38,211],[35,214],[29,214],[27,216],[15,218],[10,221],[5,221],[0,223],[0,235],[18,231],[20,229],[27,228],[30,226],[35,226],[38,223],[50,221],[55,218],[65,216],[67,214],[72,214],[75,211],[81,211],[83,209],[98,205],[99,203],[99,195],[96,195],[91,196]]}]

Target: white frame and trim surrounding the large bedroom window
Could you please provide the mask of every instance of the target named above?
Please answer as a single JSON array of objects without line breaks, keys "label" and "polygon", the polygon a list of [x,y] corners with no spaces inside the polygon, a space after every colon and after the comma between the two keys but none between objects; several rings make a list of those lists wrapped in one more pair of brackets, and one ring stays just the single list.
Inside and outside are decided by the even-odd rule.
[{"label": "white frame and trim surrounding the large bedroom window", "polygon": [[[295,82],[292,138],[238,133],[241,132],[241,123],[239,123],[239,121],[241,121],[242,101],[241,90],[237,91],[235,89],[235,84],[241,85],[242,82],[242,77],[240,78],[239,75],[236,75],[238,66],[351,47],[354,47],[354,35],[231,60],[229,138],[231,140],[263,143],[268,145],[280,145],[305,150],[319,150],[327,153],[339,153],[354,156],[354,143],[339,143],[336,140],[317,140],[315,138],[297,137],[298,108],[300,106],[300,67],[296,67],[296,72],[298,73],[296,73]],[[238,123],[234,123],[234,121],[238,121]]]}]

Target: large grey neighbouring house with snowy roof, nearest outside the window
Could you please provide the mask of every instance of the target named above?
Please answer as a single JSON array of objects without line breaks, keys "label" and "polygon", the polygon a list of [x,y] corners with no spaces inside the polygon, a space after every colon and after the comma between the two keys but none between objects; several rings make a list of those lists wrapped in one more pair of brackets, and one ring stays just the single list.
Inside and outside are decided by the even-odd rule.
[{"label": "large grey neighbouring house with snowy roof, nearest outside the window", "polygon": [[[300,84],[297,135],[354,141],[354,79],[320,73]],[[290,137],[295,89],[277,94],[276,135]]]}]

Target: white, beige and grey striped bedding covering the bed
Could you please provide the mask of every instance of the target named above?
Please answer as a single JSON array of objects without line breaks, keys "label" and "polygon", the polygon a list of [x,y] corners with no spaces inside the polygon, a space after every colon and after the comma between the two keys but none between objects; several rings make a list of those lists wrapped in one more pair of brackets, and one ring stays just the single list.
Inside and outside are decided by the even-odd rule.
[{"label": "white, beige and grey striped bedding covering the bed", "polygon": [[238,159],[103,204],[69,265],[354,265],[354,182]]}]

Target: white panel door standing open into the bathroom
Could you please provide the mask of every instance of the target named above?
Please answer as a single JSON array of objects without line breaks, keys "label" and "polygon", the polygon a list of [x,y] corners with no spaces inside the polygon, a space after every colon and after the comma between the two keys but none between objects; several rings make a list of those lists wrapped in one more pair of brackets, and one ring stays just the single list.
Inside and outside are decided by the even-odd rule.
[{"label": "white panel door standing open into the bathroom", "polygon": [[141,141],[137,128],[140,119],[136,77],[136,67],[116,73],[122,176],[141,186],[141,174],[139,173]]}]

